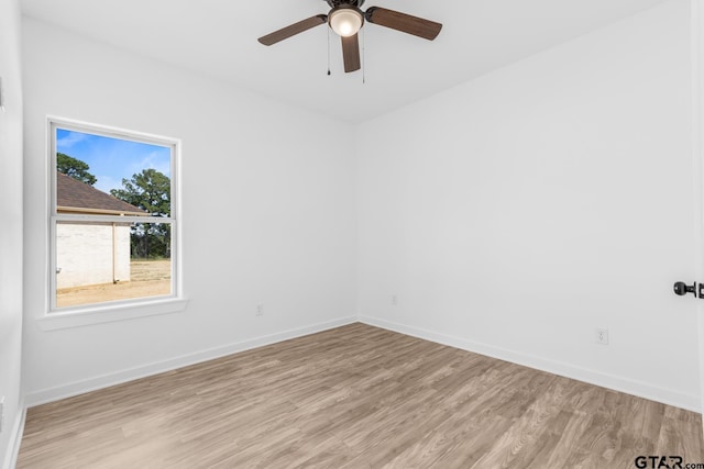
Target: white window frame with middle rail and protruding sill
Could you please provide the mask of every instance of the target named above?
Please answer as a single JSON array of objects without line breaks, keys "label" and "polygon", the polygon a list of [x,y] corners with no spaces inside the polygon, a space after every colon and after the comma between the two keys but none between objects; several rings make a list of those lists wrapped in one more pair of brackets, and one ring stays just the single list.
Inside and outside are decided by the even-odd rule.
[{"label": "white window frame with middle rail and protruding sill", "polygon": [[[82,132],[112,138],[127,139],[139,143],[165,146],[170,148],[170,216],[124,216],[124,215],[85,215],[57,213],[56,193],[56,130]],[[106,125],[90,124],[86,122],[47,116],[47,152],[48,152],[48,263],[47,263],[47,311],[41,317],[41,326],[44,330],[76,327],[105,322],[122,321],[134,317],[143,317],[154,314],[165,314],[183,311],[187,300],[183,297],[182,284],[182,249],[180,249],[180,141],[160,135],[128,131],[124,129]],[[164,223],[170,224],[172,246],[170,266],[172,284],[170,294],[160,297],[142,297],[129,300],[116,300],[102,303],[90,303],[78,306],[56,306],[56,225],[63,221],[73,222],[138,222],[138,223]]]}]

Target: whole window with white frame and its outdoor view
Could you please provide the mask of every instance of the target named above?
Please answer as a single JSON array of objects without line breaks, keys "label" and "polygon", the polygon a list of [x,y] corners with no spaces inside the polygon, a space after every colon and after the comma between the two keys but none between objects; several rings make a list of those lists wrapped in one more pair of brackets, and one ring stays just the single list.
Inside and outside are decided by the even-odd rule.
[{"label": "whole window with white frame and its outdoor view", "polygon": [[50,314],[179,297],[178,142],[50,119]]}]

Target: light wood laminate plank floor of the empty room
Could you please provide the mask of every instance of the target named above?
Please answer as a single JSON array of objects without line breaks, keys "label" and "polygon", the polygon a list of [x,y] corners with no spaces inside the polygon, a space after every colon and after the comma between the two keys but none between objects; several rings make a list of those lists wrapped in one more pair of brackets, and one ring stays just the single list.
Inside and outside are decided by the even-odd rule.
[{"label": "light wood laminate plank floor of the empty room", "polygon": [[704,462],[693,412],[364,324],[32,407],[18,468]]}]

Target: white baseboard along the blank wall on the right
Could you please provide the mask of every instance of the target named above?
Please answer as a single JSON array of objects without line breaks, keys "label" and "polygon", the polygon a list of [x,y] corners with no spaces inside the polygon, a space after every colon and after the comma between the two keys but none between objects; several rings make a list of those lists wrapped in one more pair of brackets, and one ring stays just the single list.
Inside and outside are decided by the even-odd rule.
[{"label": "white baseboard along the blank wall on the right", "polygon": [[492,358],[510,361],[513,364],[522,365],[565,378],[575,379],[578,381],[587,382],[590,384],[613,389],[614,391],[625,392],[627,394],[637,395],[650,401],[661,402],[663,404],[673,405],[693,412],[702,412],[702,404],[698,395],[684,394],[669,389],[658,388],[640,381],[630,380],[586,368],[575,367],[573,365],[554,361],[537,356],[521,354],[516,350],[509,350],[502,347],[495,347],[460,337],[453,337],[446,334],[439,334],[424,328],[397,324],[394,322],[380,320],[369,316],[360,316],[359,321],[364,324],[382,327],[388,331],[397,332],[405,335],[422,338],[442,345],[460,348],[462,350],[473,351],[475,354],[485,355]]}]

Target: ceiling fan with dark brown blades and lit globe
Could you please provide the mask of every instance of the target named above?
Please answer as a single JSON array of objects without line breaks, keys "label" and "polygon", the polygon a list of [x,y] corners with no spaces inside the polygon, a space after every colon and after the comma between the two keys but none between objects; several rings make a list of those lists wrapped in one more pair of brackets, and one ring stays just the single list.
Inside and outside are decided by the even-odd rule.
[{"label": "ceiling fan with dark brown blades and lit globe", "polygon": [[442,24],[422,18],[411,16],[394,10],[381,7],[370,7],[366,11],[360,10],[364,0],[324,0],[332,10],[328,14],[317,14],[298,23],[290,24],[271,34],[262,36],[258,42],[271,46],[279,41],[295,36],[298,33],[310,30],[322,23],[328,23],[330,29],[342,38],[342,58],[344,71],[359,70],[360,42],[358,32],[364,24],[364,20],[381,26],[403,33],[413,34],[429,41],[435,40]]}]

